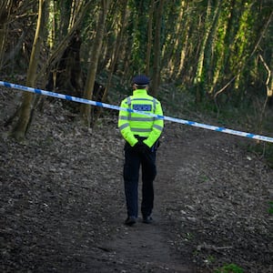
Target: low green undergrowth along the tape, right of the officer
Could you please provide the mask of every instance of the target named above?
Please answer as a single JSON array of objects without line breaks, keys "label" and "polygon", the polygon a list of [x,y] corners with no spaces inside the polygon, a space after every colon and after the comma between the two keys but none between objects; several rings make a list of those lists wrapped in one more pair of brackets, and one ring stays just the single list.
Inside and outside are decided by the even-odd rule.
[{"label": "low green undergrowth along the tape, right of the officer", "polygon": [[[192,93],[174,85],[163,86],[158,96],[163,102],[166,116],[176,116],[201,123],[209,122],[213,126],[273,137],[273,109],[267,107],[263,112],[262,97],[259,102],[257,97],[255,99],[250,97],[239,102],[222,102],[218,106],[206,97],[197,105]],[[268,166],[273,168],[272,143],[252,139],[246,148],[248,152],[264,159]]]}]

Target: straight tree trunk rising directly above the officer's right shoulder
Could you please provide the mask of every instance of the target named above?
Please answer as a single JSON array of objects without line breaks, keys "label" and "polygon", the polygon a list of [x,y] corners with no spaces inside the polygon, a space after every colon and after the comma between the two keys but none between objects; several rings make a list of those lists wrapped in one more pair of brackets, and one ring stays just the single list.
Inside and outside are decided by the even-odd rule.
[{"label": "straight tree trunk rising directly above the officer's right shoulder", "polygon": [[159,5],[157,9],[157,23],[156,23],[156,35],[154,44],[154,66],[153,66],[153,80],[151,85],[151,95],[157,96],[157,89],[160,82],[160,57],[161,57],[161,25],[162,25],[162,15],[163,15],[164,0],[159,0]]}]

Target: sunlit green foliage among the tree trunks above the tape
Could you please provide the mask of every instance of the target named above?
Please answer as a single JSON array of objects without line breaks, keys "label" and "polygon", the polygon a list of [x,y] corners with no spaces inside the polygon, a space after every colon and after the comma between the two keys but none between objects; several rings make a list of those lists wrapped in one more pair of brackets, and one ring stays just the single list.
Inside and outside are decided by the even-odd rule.
[{"label": "sunlit green foliage among the tree trunks above the tape", "polygon": [[[33,22],[36,20],[35,13],[30,11],[36,10],[36,3],[33,1],[32,5],[23,5],[23,2],[22,5],[18,5],[18,9],[10,9],[12,14],[6,20],[6,23],[15,22],[13,35],[9,35],[8,30],[1,34],[0,41],[5,41],[2,49],[2,60],[5,61],[4,76],[22,73],[29,60],[27,55],[31,52],[31,43],[28,41],[33,40],[35,33]],[[86,74],[84,72],[93,60],[93,56],[89,55],[94,45],[97,15],[101,7],[100,1],[91,2],[92,5],[88,5],[88,12],[79,25],[82,41],[80,68],[83,72],[83,81]],[[161,51],[159,52],[161,54],[160,84],[183,85],[181,90],[168,86],[170,90],[167,93],[159,94],[167,111],[175,116],[188,113],[198,116],[199,113],[196,112],[202,112],[216,117],[221,124],[229,123],[232,126],[238,123],[244,125],[246,117],[250,116],[248,113],[252,111],[254,116],[252,119],[256,119],[256,124],[258,123],[261,107],[254,107],[252,104],[257,100],[261,105],[260,99],[264,99],[268,77],[268,71],[260,61],[259,55],[263,57],[268,67],[272,66],[272,46],[270,46],[273,41],[272,24],[267,24],[271,14],[268,8],[269,2],[165,1],[160,36],[163,46],[159,49]],[[41,50],[43,52],[41,65],[45,64],[46,60],[51,60],[52,64],[48,65],[54,66],[60,58],[56,56],[55,59],[51,59],[52,51],[48,51],[47,48],[48,46],[55,48],[59,45],[69,32],[72,23],[78,19],[78,9],[84,2],[76,3],[72,0],[48,1],[47,35],[43,44],[45,48]],[[120,87],[116,89],[113,87],[116,97],[123,96],[123,93],[126,93],[124,91],[130,89],[127,81],[134,74],[143,73],[147,66],[147,26],[151,19],[149,18],[151,1],[128,0],[126,5],[124,3],[124,1],[113,2],[108,12],[103,48],[99,56],[97,70],[99,75],[96,76],[96,78],[101,77],[105,71],[108,75],[109,65],[116,54],[116,39],[121,30],[124,30],[121,36],[122,43],[115,56],[117,63],[114,76],[122,78]],[[152,17],[152,43],[155,41],[157,5],[158,1]],[[126,14],[126,19],[121,21],[120,16],[123,14]],[[12,25],[8,26],[12,27]],[[22,29],[25,29],[25,26],[27,26],[26,36],[20,41],[19,37],[23,37]],[[18,48],[22,45],[22,49],[14,51],[13,48],[17,45]],[[202,50],[202,45],[206,45],[205,51]],[[150,66],[153,64],[155,47],[152,46],[151,50]],[[204,59],[200,57],[202,54]],[[202,66],[199,74],[197,74],[198,66]],[[149,67],[149,71],[152,71],[152,68]],[[153,73],[149,76],[153,79]],[[115,77],[112,77],[111,88],[117,86],[114,79]],[[103,84],[106,82],[107,76]],[[227,87],[224,87],[226,85]],[[125,86],[128,86],[127,90]],[[223,92],[217,96],[216,105],[213,96],[222,88]],[[200,97],[199,100],[197,96]],[[271,125],[272,114],[270,115],[268,119],[271,118],[269,123]],[[265,130],[271,132],[270,127]],[[266,151],[266,157],[269,158],[272,157],[270,149],[267,148]]]}]

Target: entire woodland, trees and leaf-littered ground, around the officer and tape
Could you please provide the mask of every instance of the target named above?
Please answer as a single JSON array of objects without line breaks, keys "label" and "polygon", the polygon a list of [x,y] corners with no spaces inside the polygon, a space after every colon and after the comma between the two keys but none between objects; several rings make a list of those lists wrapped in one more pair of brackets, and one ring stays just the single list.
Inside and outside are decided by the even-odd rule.
[{"label": "entire woodland, trees and leaf-littered ground, around the officer and tape", "polygon": [[[2,0],[0,81],[119,105],[147,74],[166,116],[272,137],[272,19],[272,0]],[[166,122],[157,223],[128,231],[116,111],[4,86],[0,109],[1,272],[272,273],[271,143]]]}]

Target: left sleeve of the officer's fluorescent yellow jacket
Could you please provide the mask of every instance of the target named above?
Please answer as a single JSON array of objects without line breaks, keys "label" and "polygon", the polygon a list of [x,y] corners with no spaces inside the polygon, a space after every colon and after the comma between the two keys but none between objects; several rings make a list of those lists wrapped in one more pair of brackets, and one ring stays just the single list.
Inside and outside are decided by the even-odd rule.
[{"label": "left sleeve of the officer's fluorescent yellow jacket", "polygon": [[[122,101],[120,107],[122,108],[128,108],[128,105],[126,104],[126,99]],[[120,110],[118,115],[118,128],[120,130],[121,135],[124,137],[126,142],[129,143],[131,147],[136,145],[136,142],[138,141],[136,137],[134,136],[133,132],[130,129],[129,126],[129,120],[128,120],[129,112]]]}]

